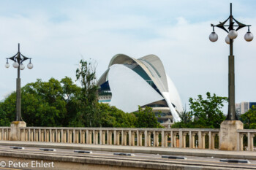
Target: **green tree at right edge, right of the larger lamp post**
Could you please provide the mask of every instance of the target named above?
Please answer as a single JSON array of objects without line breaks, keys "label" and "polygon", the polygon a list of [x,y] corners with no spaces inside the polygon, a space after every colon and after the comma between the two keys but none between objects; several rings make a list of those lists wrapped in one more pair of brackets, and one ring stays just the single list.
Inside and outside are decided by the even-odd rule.
[{"label": "green tree at right edge, right of the larger lamp post", "polygon": [[252,106],[247,112],[241,115],[244,128],[256,129],[256,107]]}]

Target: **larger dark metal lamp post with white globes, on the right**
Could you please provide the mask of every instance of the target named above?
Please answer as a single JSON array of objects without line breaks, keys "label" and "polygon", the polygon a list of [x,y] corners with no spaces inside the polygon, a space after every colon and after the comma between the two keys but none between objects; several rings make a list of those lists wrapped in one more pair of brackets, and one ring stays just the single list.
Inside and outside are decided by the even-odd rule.
[{"label": "larger dark metal lamp post with white globes, on the right", "polygon": [[[227,23],[229,20],[229,24]],[[219,24],[214,25],[213,32],[210,34],[209,39],[211,42],[216,42],[218,35],[214,31],[214,27],[222,28],[222,30],[227,32],[227,37],[225,42],[230,45],[230,55],[228,56],[228,112],[226,120],[238,120],[236,116],[236,105],[235,105],[235,59],[233,55],[233,41],[238,36],[238,30],[244,27],[248,27],[247,33],[244,35],[246,42],[250,42],[253,39],[252,33],[249,31],[251,25],[245,25],[244,23],[238,22],[232,15],[232,3],[230,3],[230,16],[224,22],[219,22]],[[236,30],[235,30],[236,28]],[[228,31],[227,31],[228,29]]]}]

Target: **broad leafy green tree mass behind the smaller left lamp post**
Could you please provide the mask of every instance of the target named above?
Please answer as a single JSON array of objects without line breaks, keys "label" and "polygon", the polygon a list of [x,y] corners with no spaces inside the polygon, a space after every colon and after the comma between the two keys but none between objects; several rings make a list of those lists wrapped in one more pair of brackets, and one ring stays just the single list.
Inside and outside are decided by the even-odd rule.
[{"label": "broad leafy green tree mass behind the smaller left lamp post", "polygon": [[[59,82],[51,78],[48,82],[31,82],[21,88],[21,112],[29,126],[68,126],[69,118],[75,117],[75,91],[79,88],[65,77]],[[67,83],[69,82],[69,83]],[[68,86],[71,86],[68,88]],[[69,91],[67,90],[69,89]],[[74,101],[75,104],[71,104]],[[15,120],[16,93],[0,104],[0,123],[10,125]]]}]

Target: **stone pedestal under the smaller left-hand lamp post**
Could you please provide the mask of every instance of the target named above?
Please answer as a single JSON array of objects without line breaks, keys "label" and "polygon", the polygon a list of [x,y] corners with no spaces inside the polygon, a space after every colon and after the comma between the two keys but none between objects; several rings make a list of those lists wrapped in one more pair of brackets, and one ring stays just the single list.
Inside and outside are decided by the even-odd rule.
[{"label": "stone pedestal under the smaller left-hand lamp post", "polygon": [[11,123],[11,141],[20,141],[20,128],[26,127],[26,122],[24,121],[13,121]]}]

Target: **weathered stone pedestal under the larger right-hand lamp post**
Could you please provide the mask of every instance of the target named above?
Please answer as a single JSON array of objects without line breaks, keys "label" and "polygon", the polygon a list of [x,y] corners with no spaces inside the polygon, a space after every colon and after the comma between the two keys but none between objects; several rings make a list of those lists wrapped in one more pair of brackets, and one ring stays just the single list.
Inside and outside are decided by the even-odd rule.
[{"label": "weathered stone pedestal under the larger right-hand lamp post", "polygon": [[220,124],[220,150],[238,150],[238,129],[244,129],[240,120],[225,120]]}]

